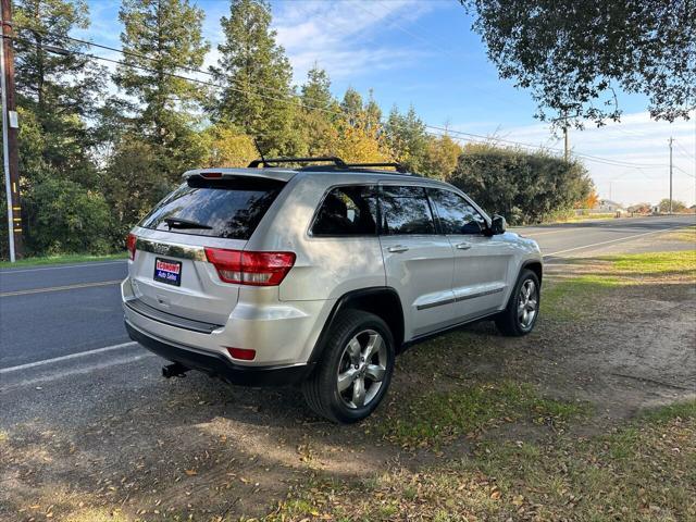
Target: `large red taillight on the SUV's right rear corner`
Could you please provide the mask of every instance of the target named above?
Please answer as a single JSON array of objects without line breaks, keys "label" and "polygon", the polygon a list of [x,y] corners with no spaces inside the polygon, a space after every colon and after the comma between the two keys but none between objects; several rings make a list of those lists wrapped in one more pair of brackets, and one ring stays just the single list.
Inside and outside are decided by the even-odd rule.
[{"label": "large red taillight on the SUV's right rear corner", "polygon": [[208,261],[225,283],[276,286],[295,264],[293,252],[246,252],[206,247]]}]

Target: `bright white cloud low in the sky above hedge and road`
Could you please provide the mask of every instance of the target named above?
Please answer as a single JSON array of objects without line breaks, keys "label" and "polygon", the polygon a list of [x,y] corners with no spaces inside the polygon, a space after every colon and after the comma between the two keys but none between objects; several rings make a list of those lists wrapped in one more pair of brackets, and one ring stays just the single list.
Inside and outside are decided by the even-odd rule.
[{"label": "bright white cloud low in the sky above hedge and road", "polygon": [[[647,112],[625,114],[621,123],[570,130],[572,153],[583,161],[600,197],[630,204],[658,202],[669,197],[669,146],[673,147],[673,195],[694,204],[696,200],[696,114],[685,122],[656,122]],[[496,138],[551,148],[561,152],[563,140],[546,124],[493,127],[458,124],[455,130],[493,135]],[[597,157],[587,158],[587,156]],[[607,164],[610,160],[617,164]],[[619,164],[621,163],[621,164]]]}]

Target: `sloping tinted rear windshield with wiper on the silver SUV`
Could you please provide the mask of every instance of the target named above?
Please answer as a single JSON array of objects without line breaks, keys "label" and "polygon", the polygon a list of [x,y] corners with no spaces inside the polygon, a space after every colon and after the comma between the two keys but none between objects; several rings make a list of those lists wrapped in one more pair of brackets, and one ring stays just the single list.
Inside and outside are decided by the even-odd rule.
[{"label": "sloping tinted rear windshield with wiper on the silver SUV", "polygon": [[141,222],[156,231],[249,239],[285,186],[266,178],[202,179],[192,177]]}]

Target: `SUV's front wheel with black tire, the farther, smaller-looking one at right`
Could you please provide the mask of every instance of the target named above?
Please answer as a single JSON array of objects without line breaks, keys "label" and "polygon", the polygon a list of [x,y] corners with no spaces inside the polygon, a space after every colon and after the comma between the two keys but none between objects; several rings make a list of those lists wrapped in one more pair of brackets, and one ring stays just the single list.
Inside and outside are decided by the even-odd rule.
[{"label": "SUV's front wheel with black tire, the farther, smaller-looking one at right", "polygon": [[[532,285],[532,296],[529,298],[526,291]],[[508,306],[496,316],[496,326],[502,335],[520,337],[534,330],[534,325],[539,316],[539,306],[542,303],[539,278],[531,270],[524,269],[520,272]],[[522,310],[522,303],[524,310]],[[526,315],[524,315],[526,311]]]}]

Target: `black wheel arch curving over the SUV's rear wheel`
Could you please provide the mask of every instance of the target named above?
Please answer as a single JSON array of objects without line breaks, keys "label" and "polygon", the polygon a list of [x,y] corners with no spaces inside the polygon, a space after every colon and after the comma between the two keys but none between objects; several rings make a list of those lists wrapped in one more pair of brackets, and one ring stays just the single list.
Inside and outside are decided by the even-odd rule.
[{"label": "black wheel arch curving over the SUV's rear wheel", "polygon": [[396,352],[401,351],[405,335],[401,300],[397,291],[390,286],[375,286],[348,291],[336,300],[312,349],[309,359],[310,363],[316,363],[322,359],[326,338],[338,313],[350,309],[363,310],[381,318],[391,331]]}]

